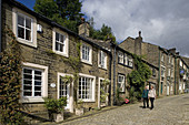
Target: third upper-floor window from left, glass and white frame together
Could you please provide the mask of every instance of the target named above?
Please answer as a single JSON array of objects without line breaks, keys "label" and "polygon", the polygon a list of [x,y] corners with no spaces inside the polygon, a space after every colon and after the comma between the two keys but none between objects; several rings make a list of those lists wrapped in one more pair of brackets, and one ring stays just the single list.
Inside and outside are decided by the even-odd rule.
[{"label": "third upper-floor window from left, glass and white frame together", "polygon": [[86,43],[81,45],[81,61],[92,64],[92,49]]}]

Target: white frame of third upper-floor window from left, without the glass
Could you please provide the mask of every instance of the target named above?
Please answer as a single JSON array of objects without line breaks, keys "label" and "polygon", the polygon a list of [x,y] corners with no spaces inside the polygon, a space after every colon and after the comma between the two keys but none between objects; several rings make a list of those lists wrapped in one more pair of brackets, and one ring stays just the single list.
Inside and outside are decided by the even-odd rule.
[{"label": "white frame of third upper-floor window from left, without the glass", "polygon": [[[86,60],[86,59],[82,59],[82,46],[83,45],[89,48],[89,55],[88,55],[89,56],[89,61]],[[92,46],[91,45],[82,42],[82,45],[80,48],[80,55],[81,55],[81,62],[87,63],[87,64],[92,64]]]}]

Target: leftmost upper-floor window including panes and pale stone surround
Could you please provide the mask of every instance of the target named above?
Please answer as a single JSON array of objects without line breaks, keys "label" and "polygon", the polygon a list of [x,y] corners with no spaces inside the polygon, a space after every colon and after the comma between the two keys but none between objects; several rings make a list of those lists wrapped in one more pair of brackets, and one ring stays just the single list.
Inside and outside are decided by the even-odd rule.
[{"label": "leftmost upper-floor window including panes and pale stone surround", "polygon": [[12,24],[19,42],[37,48],[37,20],[34,17],[13,8]]}]

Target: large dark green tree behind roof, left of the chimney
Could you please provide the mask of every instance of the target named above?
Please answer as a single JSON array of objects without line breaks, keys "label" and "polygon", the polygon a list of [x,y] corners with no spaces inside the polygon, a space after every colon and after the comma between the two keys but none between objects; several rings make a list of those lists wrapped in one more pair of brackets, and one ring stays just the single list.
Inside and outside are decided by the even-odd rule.
[{"label": "large dark green tree behind roof, left of the chimney", "polygon": [[62,27],[78,32],[78,23],[83,15],[81,7],[79,0],[37,0],[33,9]]}]

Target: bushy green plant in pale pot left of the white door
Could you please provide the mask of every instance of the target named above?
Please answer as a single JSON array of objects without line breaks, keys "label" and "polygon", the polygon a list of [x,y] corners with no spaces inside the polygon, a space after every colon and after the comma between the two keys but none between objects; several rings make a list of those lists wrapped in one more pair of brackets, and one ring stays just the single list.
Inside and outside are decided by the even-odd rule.
[{"label": "bushy green plant in pale pot left of the white door", "polygon": [[54,122],[63,121],[63,110],[67,105],[67,97],[61,97],[59,100],[44,98],[44,106],[49,112],[49,118]]}]

